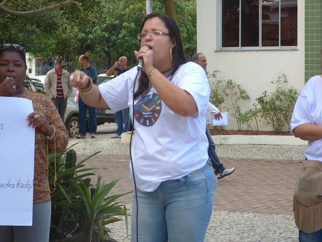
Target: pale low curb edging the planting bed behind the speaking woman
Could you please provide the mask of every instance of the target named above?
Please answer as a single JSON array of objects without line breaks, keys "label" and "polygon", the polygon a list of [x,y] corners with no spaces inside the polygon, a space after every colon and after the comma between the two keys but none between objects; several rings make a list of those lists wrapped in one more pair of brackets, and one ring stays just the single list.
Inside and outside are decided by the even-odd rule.
[{"label": "pale low curb edging the planting bed behind the speaking woman", "polygon": [[[213,135],[216,145],[307,145],[307,141],[294,136],[278,135]],[[131,132],[123,133],[122,144],[129,144]]]}]

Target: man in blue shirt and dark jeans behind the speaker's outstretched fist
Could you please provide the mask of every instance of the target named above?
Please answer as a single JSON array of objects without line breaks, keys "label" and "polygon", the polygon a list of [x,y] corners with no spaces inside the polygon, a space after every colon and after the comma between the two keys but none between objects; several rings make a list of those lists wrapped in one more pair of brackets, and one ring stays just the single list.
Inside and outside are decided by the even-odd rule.
[{"label": "man in blue shirt and dark jeans behind the speaker's outstretched fist", "polygon": [[[97,72],[94,67],[90,65],[89,56],[87,54],[82,54],[79,56],[79,65],[81,65],[81,71],[85,72],[90,78],[93,79],[93,84],[97,85]],[[85,104],[82,100],[81,95],[78,97],[78,135],[77,139],[86,138],[86,114],[89,110],[89,129],[91,138],[96,137],[97,130],[97,120],[96,120],[96,108],[90,107]]]}]

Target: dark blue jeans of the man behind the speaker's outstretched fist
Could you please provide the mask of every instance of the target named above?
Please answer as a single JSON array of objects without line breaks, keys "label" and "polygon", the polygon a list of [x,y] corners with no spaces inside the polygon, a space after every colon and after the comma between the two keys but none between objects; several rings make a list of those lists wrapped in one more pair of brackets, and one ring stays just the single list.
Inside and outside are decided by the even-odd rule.
[{"label": "dark blue jeans of the man behind the speaker's outstretched fist", "polygon": [[81,96],[78,97],[78,134],[86,135],[86,114],[89,110],[89,129],[90,134],[96,135],[97,130],[97,120],[96,120],[96,108],[90,107],[85,104]]}]

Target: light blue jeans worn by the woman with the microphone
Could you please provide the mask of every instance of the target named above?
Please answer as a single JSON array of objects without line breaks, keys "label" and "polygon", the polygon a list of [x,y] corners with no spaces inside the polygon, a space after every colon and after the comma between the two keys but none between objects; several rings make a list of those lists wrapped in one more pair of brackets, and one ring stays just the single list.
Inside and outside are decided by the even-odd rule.
[{"label": "light blue jeans worn by the woman with the microphone", "polygon": [[210,221],[217,179],[210,162],[177,180],[167,180],[153,192],[133,193],[131,242],[202,242]]}]

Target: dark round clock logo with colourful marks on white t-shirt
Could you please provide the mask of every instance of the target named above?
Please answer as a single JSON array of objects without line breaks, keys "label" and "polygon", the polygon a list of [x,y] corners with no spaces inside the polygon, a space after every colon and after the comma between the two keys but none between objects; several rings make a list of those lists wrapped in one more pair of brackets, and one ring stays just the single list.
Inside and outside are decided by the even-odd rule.
[{"label": "dark round clock logo with colourful marks on white t-shirt", "polygon": [[134,105],[134,117],[143,126],[150,127],[159,118],[162,101],[157,93],[141,97]]}]

